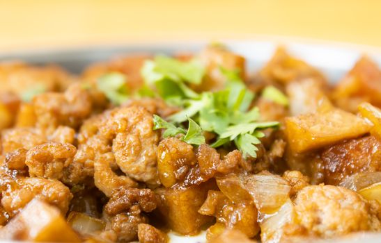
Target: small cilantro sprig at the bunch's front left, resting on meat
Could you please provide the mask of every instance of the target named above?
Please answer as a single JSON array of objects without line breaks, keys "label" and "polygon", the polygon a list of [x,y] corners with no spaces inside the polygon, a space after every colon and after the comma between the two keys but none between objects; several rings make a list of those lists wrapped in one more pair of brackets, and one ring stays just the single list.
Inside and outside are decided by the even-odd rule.
[{"label": "small cilantro sprig at the bunch's front left, resting on meat", "polygon": [[184,128],[177,127],[168,121],[162,119],[158,115],[153,115],[153,130],[160,128],[166,129],[163,133],[163,137],[175,137],[178,134],[184,135],[181,140],[188,144],[205,144],[205,137],[203,136],[203,130],[196,124],[196,121],[188,118],[189,126],[187,131]]}]

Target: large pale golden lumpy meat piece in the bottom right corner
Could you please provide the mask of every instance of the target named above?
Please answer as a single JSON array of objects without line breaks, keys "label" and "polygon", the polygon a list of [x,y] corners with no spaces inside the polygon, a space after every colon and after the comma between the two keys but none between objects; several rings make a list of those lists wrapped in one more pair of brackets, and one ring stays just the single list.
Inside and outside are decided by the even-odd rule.
[{"label": "large pale golden lumpy meat piece in the bottom right corner", "polygon": [[294,203],[296,220],[286,225],[285,235],[327,238],[357,231],[381,230],[378,219],[380,206],[374,208],[359,194],[344,187],[304,187],[298,192]]}]

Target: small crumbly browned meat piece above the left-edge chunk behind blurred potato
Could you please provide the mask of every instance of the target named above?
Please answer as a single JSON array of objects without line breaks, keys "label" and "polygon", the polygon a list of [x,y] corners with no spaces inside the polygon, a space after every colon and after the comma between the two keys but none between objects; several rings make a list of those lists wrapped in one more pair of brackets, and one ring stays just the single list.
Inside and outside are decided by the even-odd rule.
[{"label": "small crumbly browned meat piece above the left-edge chunk behind blurred potato", "polygon": [[41,177],[68,181],[64,178],[65,170],[75,156],[77,149],[72,144],[47,142],[33,147],[26,153],[25,164],[29,168],[31,177]]}]

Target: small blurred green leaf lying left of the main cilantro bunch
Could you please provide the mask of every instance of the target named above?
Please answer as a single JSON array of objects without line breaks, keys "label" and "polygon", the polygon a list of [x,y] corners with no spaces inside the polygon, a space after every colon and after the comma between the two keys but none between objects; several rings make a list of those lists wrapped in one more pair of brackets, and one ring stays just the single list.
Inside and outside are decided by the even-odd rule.
[{"label": "small blurred green leaf lying left of the main cilantro bunch", "polygon": [[98,78],[97,87],[109,101],[118,106],[129,98],[126,81],[125,75],[112,72]]}]

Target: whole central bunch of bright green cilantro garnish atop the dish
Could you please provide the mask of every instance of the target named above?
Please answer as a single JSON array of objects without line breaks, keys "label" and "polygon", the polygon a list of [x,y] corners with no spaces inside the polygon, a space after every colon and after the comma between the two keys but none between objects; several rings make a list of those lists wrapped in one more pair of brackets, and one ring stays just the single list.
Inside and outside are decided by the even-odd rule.
[{"label": "whole central bunch of bright green cilantro garnish atop the dish", "polygon": [[[205,143],[202,131],[210,131],[217,135],[212,147],[234,143],[244,158],[255,158],[258,151],[256,144],[261,143],[259,138],[264,136],[261,129],[274,128],[279,123],[259,121],[259,109],[250,108],[254,93],[247,89],[238,70],[220,67],[226,80],[224,90],[201,94],[194,92],[188,85],[201,83],[203,72],[197,62],[180,62],[165,56],[157,56],[155,60],[146,62],[142,70],[146,83],[155,85],[167,103],[183,108],[169,117],[170,122],[154,118],[157,124],[155,128],[165,128],[164,137],[183,135],[183,141],[197,145]],[[270,90],[270,94],[270,97],[276,94],[275,99],[279,101],[277,92]],[[189,124],[187,131],[175,125],[185,121]]]}]

